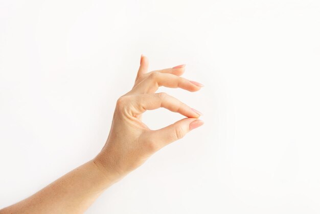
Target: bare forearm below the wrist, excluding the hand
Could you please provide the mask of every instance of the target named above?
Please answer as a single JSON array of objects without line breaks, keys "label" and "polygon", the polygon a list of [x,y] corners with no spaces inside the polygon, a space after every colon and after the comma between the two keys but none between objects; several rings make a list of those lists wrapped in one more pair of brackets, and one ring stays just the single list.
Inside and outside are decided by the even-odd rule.
[{"label": "bare forearm below the wrist, excluding the hand", "polygon": [[101,169],[92,160],[31,197],[0,210],[0,213],[83,213],[105,189],[119,179],[117,173]]}]

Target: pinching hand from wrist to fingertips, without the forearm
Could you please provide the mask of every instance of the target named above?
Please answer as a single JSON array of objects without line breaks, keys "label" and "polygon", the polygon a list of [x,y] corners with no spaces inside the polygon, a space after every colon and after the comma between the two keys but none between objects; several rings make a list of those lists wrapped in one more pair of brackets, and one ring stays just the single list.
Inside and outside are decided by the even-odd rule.
[{"label": "pinching hand from wrist to fingertips, without the forearm", "polygon": [[[120,179],[142,165],[157,150],[203,124],[197,119],[201,114],[198,111],[166,93],[155,93],[161,86],[191,92],[200,90],[203,85],[180,77],[185,65],[152,72],[147,72],[147,69],[148,60],[141,56],[135,84],[131,91],[118,99],[109,137],[94,159],[94,163],[111,180]],[[161,107],[187,118],[162,129],[151,130],[141,121],[142,114]]]}]

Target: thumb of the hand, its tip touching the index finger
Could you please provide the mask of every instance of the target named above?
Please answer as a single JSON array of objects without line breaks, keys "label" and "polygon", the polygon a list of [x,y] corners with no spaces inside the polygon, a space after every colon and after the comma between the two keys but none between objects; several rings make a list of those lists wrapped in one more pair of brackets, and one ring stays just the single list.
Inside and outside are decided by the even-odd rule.
[{"label": "thumb of the hand, its tip touching the index finger", "polygon": [[166,146],[176,140],[179,140],[194,128],[203,125],[203,121],[197,118],[185,118],[179,120],[162,129],[154,130],[150,136],[154,141],[157,141],[159,146]]}]

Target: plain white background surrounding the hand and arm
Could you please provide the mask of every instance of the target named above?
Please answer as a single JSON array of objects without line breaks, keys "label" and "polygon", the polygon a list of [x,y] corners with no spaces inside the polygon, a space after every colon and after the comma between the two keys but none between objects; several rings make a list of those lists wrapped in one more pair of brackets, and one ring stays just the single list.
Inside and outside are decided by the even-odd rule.
[{"label": "plain white background surrounding the hand and arm", "polygon": [[[93,158],[140,55],[205,125],[87,213],[319,213],[320,2],[0,1],[0,206]],[[148,112],[159,128],[180,115]]]}]

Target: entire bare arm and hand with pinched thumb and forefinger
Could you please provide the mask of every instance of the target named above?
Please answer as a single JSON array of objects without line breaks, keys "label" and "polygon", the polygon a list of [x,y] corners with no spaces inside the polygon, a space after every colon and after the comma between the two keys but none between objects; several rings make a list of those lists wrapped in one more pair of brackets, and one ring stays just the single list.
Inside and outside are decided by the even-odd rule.
[{"label": "entire bare arm and hand with pinched thumb and forefinger", "polygon": [[[165,94],[161,86],[190,92],[203,85],[181,77],[185,65],[148,72],[148,59],[141,56],[131,91],[116,104],[109,137],[101,152],[39,192],[0,213],[83,213],[110,185],[141,166],[153,153],[181,139],[203,124],[201,113]],[[158,130],[142,122],[147,110],[166,108],[186,118]]]}]

